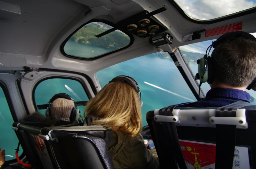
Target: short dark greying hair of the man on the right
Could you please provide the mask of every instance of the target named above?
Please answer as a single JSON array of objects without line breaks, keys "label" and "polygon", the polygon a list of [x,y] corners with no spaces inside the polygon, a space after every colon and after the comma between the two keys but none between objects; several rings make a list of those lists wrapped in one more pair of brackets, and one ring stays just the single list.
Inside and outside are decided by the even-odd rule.
[{"label": "short dark greying hair of the man on the right", "polygon": [[242,37],[219,44],[212,52],[215,79],[247,87],[256,77],[256,42]]}]

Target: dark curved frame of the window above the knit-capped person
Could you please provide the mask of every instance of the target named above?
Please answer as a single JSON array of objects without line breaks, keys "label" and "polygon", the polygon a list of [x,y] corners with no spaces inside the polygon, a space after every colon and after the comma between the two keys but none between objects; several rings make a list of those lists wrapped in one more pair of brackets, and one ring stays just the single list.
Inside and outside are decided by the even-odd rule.
[{"label": "dark curved frame of the window above the knit-capped person", "polygon": [[39,81],[34,85],[33,90],[32,90],[32,101],[33,101],[33,105],[34,105],[34,108],[35,108],[36,111],[38,111],[37,104],[36,104],[36,99],[35,99],[35,91],[36,91],[36,89],[37,89],[37,86],[38,86],[41,82],[43,82],[43,81],[45,81],[45,80],[49,80],[49,79],[69,79],[69,80],[75,80],[75,81],[77,81],[77,82],[79,82],[79,83],[81,84],[81,86],[83,87],[83,90],[84,90],[84,92],[85,92],[87,98],[88,98],[89,100],[92,98],[91,95],[89,94],[89,92],[87,91],[86,87],[83,86],[82,82],[81,82],[80,80],[76,79],[76,78],[70,78],[70,77],[66,77],[66,78],[65,78],[65,77],[63,77],[63,76],[47,77],[47,78],[44,78],[44,79],[39,80]]}]

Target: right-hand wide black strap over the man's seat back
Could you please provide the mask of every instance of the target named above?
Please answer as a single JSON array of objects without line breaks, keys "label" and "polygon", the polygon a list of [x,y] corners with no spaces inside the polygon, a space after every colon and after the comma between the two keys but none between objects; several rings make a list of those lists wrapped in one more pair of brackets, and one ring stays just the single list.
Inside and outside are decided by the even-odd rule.
[{"label": "right-hand wide black strap over the man's seat back", "polygon": [[[216,117],[236,117],[236,110],[251,106],[252,104],[240,100],[232,104],[219,107],[216,110]],[[216,169],[232,169],[236,139],[236,125],[216,125]]]}]

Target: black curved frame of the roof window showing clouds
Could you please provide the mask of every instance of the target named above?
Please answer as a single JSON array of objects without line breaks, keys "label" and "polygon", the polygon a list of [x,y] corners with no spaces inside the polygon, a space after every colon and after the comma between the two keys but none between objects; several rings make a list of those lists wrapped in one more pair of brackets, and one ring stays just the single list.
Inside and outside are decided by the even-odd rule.
[{"label": "black curved frame of the roof window showing clouds", "polygon": [[188,16],[188,14],[186,14],[186,12],[184,12],[184,10],[174,1],[174,0],[168,0],[179,12],[180,14],[187,20],[194,22],[194,23],[198,23],[198,24],[212,24],[212,23],[217,23],[217,22],[221,22],[224,20],[228,20],[228,19],[233,19],[233,18],[237,18],[237,17],[241,17],[244,15],[248,15],[251,13],[255,13],[256,12],[256,7],[253,8],[249,8],[240,12],[236,12],[230,15],[225,15],[219,18],[215,18],[215,19],[208,19],[208,20],[200,20],[200,19],[195,19],[193,17]]}]

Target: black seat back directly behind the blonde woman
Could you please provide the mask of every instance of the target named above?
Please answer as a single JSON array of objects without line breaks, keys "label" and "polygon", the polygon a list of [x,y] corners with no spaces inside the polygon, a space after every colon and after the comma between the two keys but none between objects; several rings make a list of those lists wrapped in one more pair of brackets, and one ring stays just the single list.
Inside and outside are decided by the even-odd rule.
[{"label": "black seat back directly behind the blonde woman", "polygon": [[67,131],[52,131],[50,148],[61,169],[68,168],[112,168],[112,160],[102,138],[85,136]]}]

